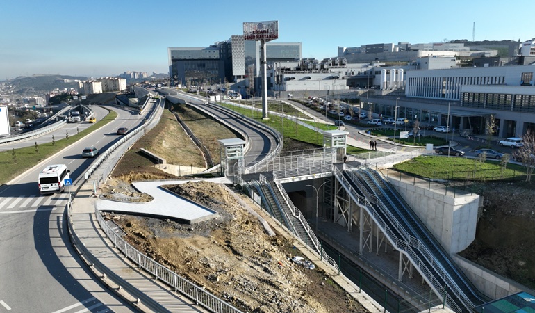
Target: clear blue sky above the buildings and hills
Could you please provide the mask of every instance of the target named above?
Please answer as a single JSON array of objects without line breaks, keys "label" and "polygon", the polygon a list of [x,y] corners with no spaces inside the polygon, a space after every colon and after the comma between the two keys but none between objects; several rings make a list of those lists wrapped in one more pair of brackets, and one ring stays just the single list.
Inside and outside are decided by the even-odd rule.
[{"label": "clear blue sky above the buildings and hills", "polygon": [[[262,4],[261,4],[262,3]],[[535,1],[6,0],[0,13],[0,80],[33,74],[100,77],[167,73],[168,47],[207,47],[243,22],[279,21],[277,42],[303,56],[384,42],[535,38]]]}]

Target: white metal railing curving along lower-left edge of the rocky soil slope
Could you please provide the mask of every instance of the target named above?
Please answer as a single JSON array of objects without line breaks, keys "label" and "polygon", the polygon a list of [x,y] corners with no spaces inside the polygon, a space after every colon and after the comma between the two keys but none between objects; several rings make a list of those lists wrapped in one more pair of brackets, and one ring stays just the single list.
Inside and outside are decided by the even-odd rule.
[{"label": "white metal railing curving along lower-left edge of the rocky soil slope", "polygon": [[159,264],[158,262],[154,261],[154,259],[147,257],[147,255],[144,255],[142,252],[135,249],[129,243],[124,241],[121,236],[117,235],[117,233],[106,224],[106,221],[97,209],[95,209],[95,216],[97,216],[97,221],[101,229],[104,230],[106,236],[108,236],[108,239],[112,241],[113,246],[115,246],[115,248],[124,253],[124,255],[134,264],[139,266],[139,268],[142,268],[148,273],[154,275],[156,280],[161,280],[162,282],[165,282],[165,284],[167,284],[168,286],[172,287],[184,296],[187,296],[191,300],[195,301],[195,303],[197,303],[198,305],[201,305],[202,307],[211,310],[211,312],[241,312],[236,307],[233,307],[229,303],[226,303],[224,300],[221,300],[220,298],[217,298],[217,296],[214,296],[210,292],[204,290],[203,287],[199,287],[196,284],[186,280],[186,278],[182,278],[180,275],[174,273],[169,268]]}]

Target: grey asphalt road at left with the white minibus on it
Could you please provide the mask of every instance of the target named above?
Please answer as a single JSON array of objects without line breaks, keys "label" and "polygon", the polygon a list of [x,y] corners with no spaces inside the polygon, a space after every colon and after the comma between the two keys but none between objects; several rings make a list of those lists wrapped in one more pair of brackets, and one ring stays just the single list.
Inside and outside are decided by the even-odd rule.
[{"label": "grey asphalt road at left with the white minibus on it", "polygon": [[[104,109],[96,109],[99,119],[104,116],[101,110]],[[94,279],[73,250],[65,218],[67,191],[40,195],[36,182],[38,172],[53,163],[67,164],[75,181],[93,161],[81,159],[83,147],[95,145],[106,150],[117,141],[118,127],[133,129],[144,118],[131,111],[114,110],[118,113],[115,121],[0,188],[0,313],[69,313],[84,307],[94,312],[133,312]],[[76,127],[85,125],[89,126],[69,124],[62,131],[76,131]],[[50,141],[51,134],[38,140],[45,142],[47,137]],[[13,144],[9,149],[19,145],[23,143]]]}]

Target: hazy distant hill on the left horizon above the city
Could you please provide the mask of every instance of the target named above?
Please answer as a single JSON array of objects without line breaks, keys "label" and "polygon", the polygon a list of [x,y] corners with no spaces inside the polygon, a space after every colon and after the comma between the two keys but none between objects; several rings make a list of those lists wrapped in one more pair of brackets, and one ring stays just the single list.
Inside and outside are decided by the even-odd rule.
[{"label": "hazy distant hill on the left horizon above the city", "polygon": [[63,88],[78,89],[78,83],[76,81],[85,79],[88,78],[81,76],[35,74],[31,77],[8,79],[6,83],[13,86],[13,93],[17,95],[35,95],[48,93],[54,88],[59,88],[60,90],[63,90]]}]

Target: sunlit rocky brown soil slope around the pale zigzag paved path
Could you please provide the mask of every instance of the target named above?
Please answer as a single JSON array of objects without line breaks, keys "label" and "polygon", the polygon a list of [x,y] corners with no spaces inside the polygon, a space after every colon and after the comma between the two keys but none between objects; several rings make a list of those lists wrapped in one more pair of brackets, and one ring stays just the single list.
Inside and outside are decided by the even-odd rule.
[{"label": "sunlit rocky brown soil slope around the pale zigzag paved path", "polygon": [[268,236],[224,186],[188,182],[168,188],[220,218],[195,225],[122,214],[106,218],[122,226],[138,250],[244,312],[368,312],[323,271],[293,262],[302,255],[291,236]]}]

